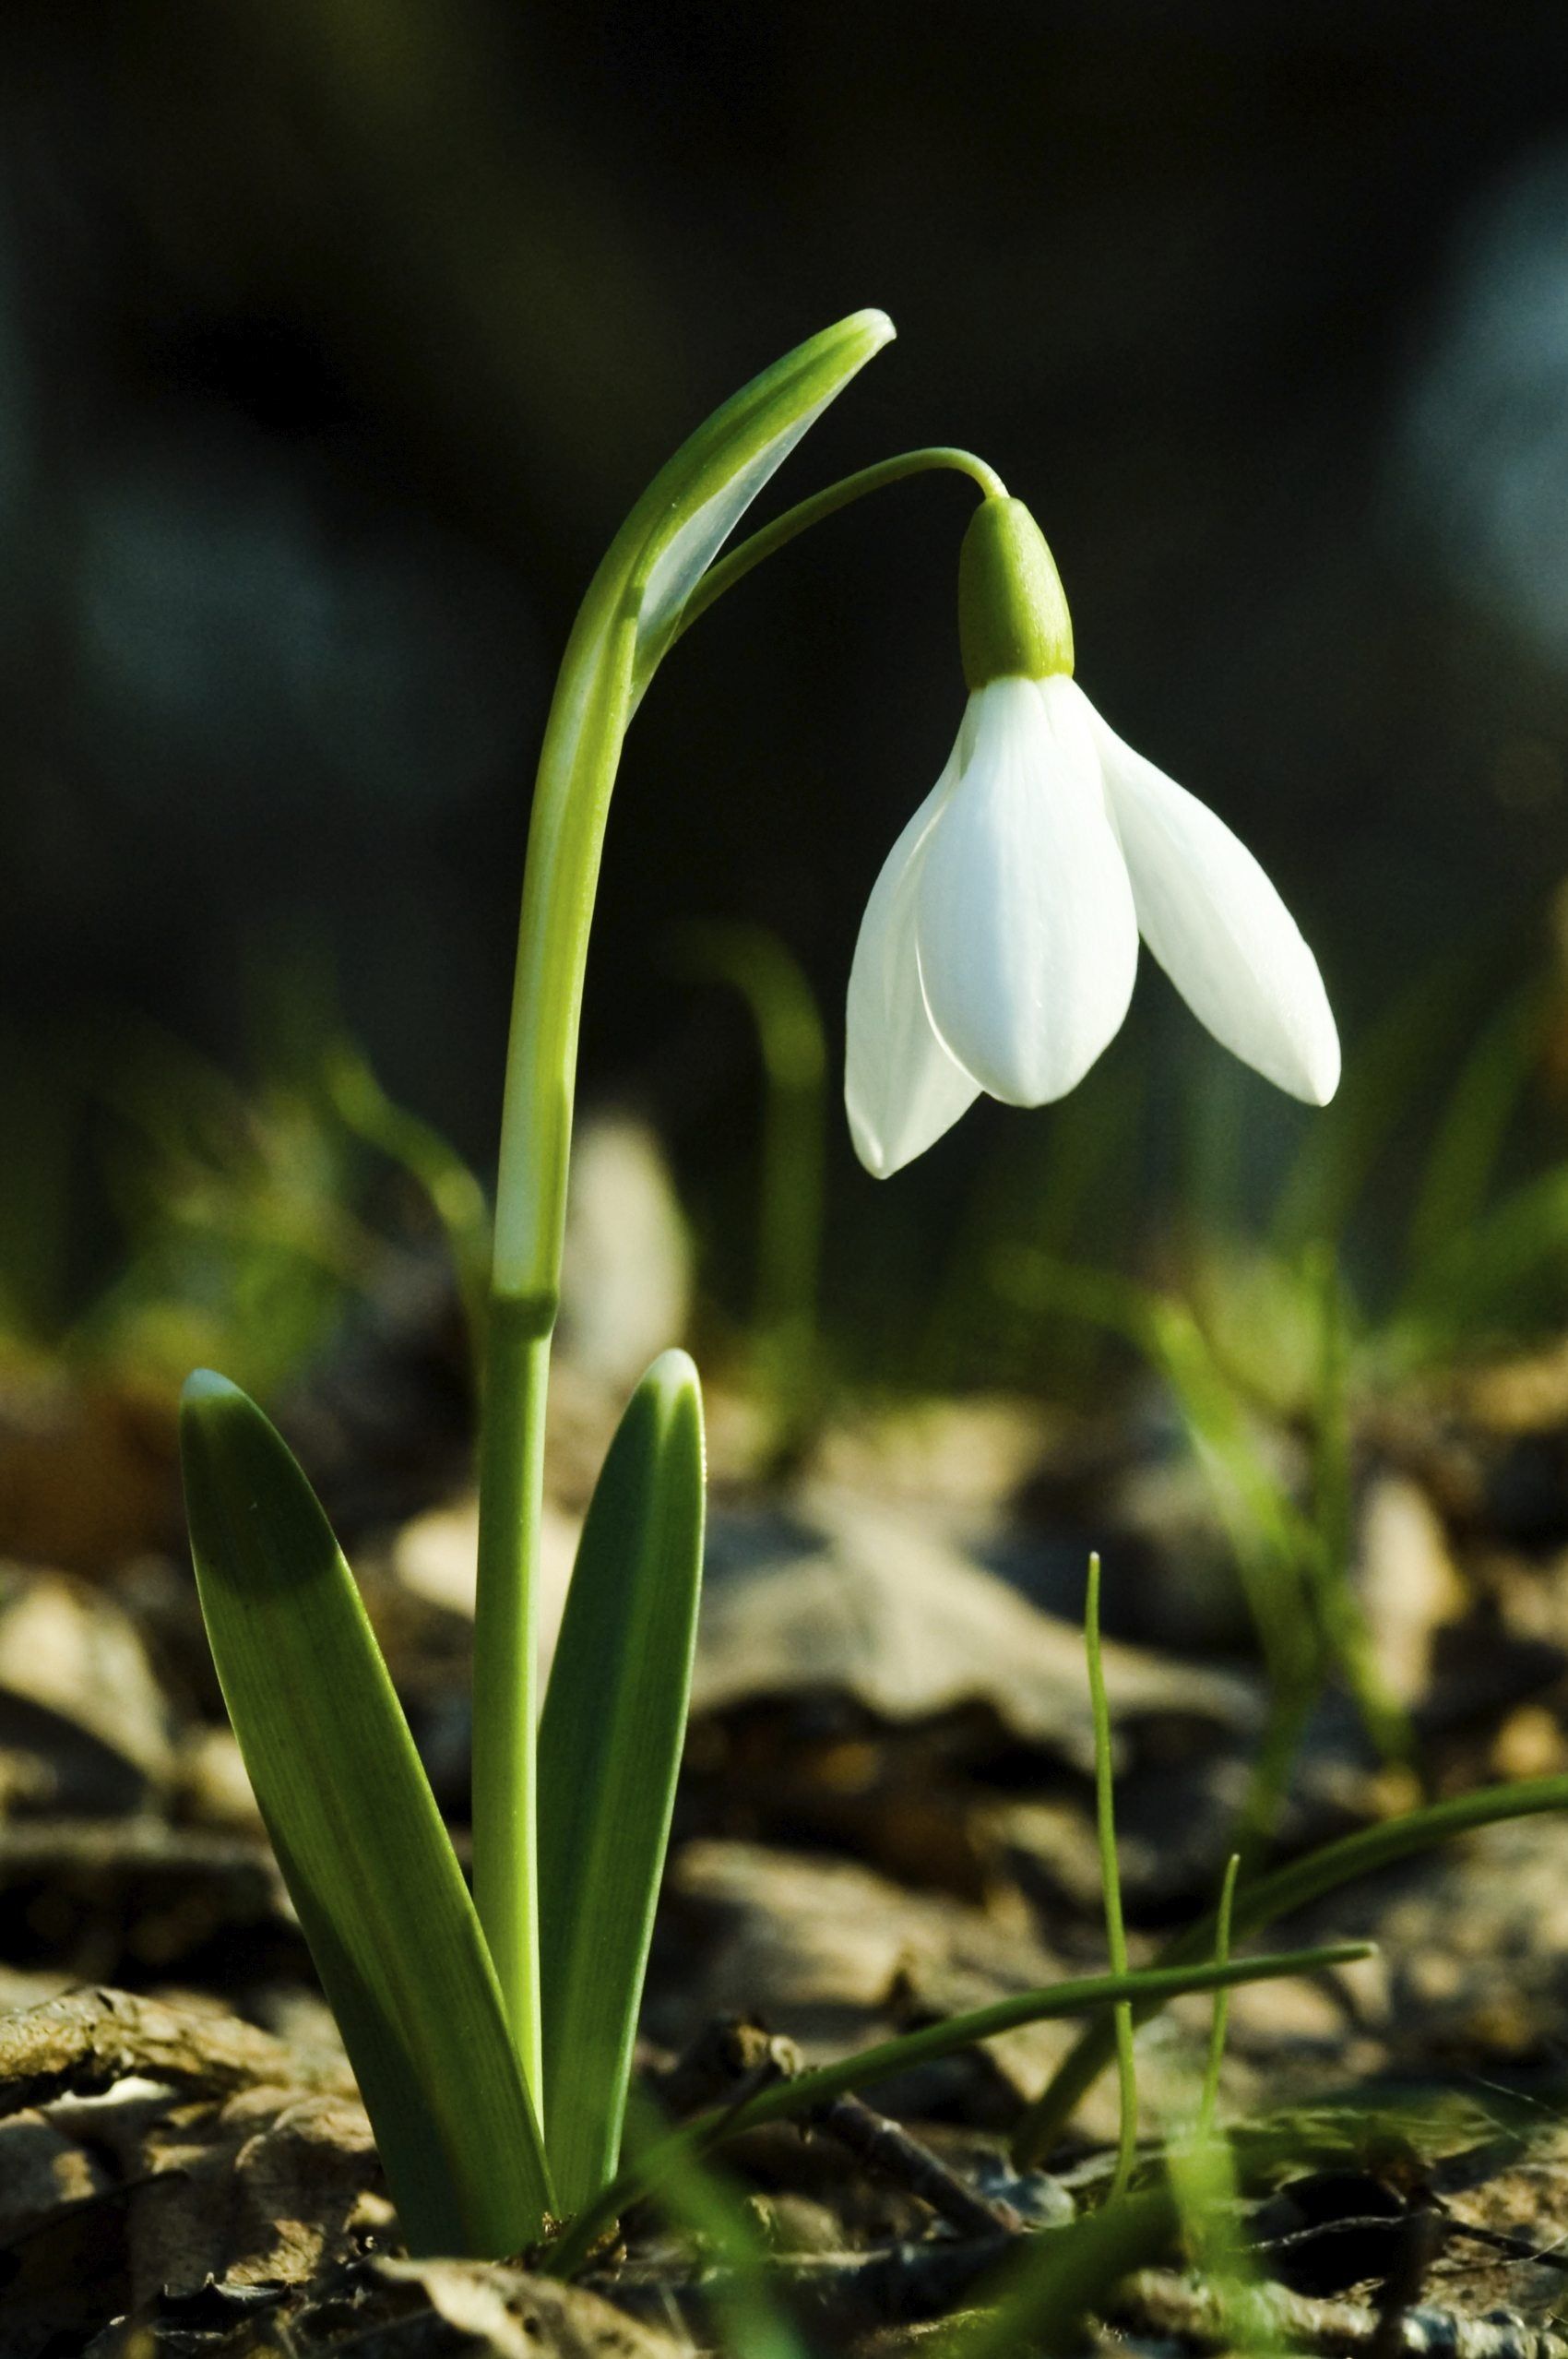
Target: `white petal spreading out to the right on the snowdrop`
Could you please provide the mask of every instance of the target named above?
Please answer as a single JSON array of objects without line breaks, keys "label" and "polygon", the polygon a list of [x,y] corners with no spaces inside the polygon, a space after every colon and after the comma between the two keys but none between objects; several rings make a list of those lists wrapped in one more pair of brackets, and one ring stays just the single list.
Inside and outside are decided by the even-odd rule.
[{"label": "white petal spreading out to the right on the snowdrop", "polygon": [[1294,918],[1207,804],[1122,745],[1087,696],[1082,708],[1144,941],[1217,1040],[1280,1090],[1325,1106],[1339,1087],[1339,1033]]}]

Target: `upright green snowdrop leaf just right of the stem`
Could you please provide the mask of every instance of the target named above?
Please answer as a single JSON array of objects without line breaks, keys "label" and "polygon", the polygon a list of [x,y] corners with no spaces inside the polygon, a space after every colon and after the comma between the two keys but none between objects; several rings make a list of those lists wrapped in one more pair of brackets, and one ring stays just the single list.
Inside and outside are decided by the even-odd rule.
[{"label": "upright green snowdrop leaf just right of the stem", "polygon": [[681,1767],[703,1578],[703,1394],[653,1361],[599,1474],[540,1720],[540,1977],[564,2210],[613,2175]]}]

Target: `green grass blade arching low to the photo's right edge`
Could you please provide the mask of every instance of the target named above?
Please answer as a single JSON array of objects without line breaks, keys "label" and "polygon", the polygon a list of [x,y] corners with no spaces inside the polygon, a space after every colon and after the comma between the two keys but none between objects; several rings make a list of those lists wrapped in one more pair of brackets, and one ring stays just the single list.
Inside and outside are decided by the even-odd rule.
[{"label": "green grass blade arching low to the photo's right edge", "polygon": [[[1568,1809],[1568,1776],[1518,1779],[1509,1786],[1483,1786],[1478,1793],[1462,1793],[1448,1802],[1431,1802],[1427,1809],[1405,1812],[1384,1826],[1363,1826],[1353,1835],[1325,1842],[1304,1859],[1292,1859],[1271,1875],[1259,1875],[1245,1885],[1231,1904],[1231,1930],[1236,1934],[1257,1932],[1273,1918],[1306,1908],[1309,1901],[1337,1892],[1339,1885],[1358,1875],[1372,1875],[1396,1859],[1429,1852],[1438,1842],[1450,1842],[1476,1826],[1497,1826],[1502,1819],[1530,1819],[1544,1809]],[[1214,1949],[1219,1925],[1217,1913],[1188,1925],[1184,1934],[1167,1941],[1158,1963],[1181,1965],[1186,1958],[1205,1958]],[[1148,2015],[1148,2000],[1134,2000],[1134,2012]],[[1066,2052],[1045,2095],[1030,2107],[1014,2137],[1014,2156],[1033,2166],[1049,2151],[1052,2142],[1073,2114],[1073,2107],[1115,2055],[1115,2036],[1108,2024],[1089,2024]]]}]

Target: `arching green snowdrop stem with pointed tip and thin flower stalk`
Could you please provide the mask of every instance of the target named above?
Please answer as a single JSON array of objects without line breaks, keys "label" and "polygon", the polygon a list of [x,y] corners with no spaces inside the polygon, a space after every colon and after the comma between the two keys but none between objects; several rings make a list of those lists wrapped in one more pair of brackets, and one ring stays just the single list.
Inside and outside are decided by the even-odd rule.
[{"label": "arching green snowdrop stem with pointed tip and thin flower stalk", "polygon": [[712,564],[769,474],[889,335],[879,311],[839,321],[755,377],[681,446],[589,585],[545,729],[502,1104],[474,1616],[474,1899],[540,2121],[535,1654],[545,1392],[604,826],[632,712],[665,651],[722,590],[882,484],[957,467],[983,493],[1000,493],[990,467],[964,451],[913,451],[830,486]]}]

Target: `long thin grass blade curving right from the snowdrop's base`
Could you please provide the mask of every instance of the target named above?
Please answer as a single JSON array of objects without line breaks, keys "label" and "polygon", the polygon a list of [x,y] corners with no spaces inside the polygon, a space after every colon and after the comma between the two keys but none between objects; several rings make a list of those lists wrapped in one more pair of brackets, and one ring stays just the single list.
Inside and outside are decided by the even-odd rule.
[{"label": "long thin grass blade curving right from the snowdrop's base", "polygon": [[1290,1974],[1318,1974],[1330,1965],[1351,1965],[1370,1958],[1370,1941],[1335,1941],[1327,1949],[1278,1951],[1261,1958],[1205,1958],[1200,1965],[1141,1967],[1134,1974],[1087,1974],[1078,1982],[1054,1982],[1042,1991],[1019,1991],[1016,1998],[997,1998],[988,2008],[967,2015],[948,2015],[938,2024],[922,2024],[920,2031],[903,2031],[894,2041],[861,2048],[858,2055],[837,2064],[821,2064],[816,2071],[797,2074],[795,2081],[778,2081],[747,2097],[745,2104],[717,2114],[703,2114],[684,2130],[672,2133],[663,2144],[639,2154],[630,2170],[604,2187],[568,2232],[552,2246],[540,2267],[552,2276],[573,2276],[594,2250],[604,2229],[648,2192],[663,2187],[667,2170],[679,2170],[684,2158],[703,2154],[745,2130],[759,2130],[771,2121],[790,2121],[813,2107],[830,2104],[877,2081],[891,2081],[915,2064],[934,2064],[974,2048],[1000,2031],[1019,2031],[1023,2024],[1045,2024],[1063,2015],[1103,2015],[1118,2000],[1132,2000],[1146,2012],[1181,1998],[1186,1991],[1221,1991],[1238,1982],[1280,1982]]}]

